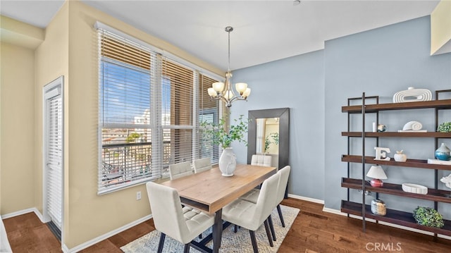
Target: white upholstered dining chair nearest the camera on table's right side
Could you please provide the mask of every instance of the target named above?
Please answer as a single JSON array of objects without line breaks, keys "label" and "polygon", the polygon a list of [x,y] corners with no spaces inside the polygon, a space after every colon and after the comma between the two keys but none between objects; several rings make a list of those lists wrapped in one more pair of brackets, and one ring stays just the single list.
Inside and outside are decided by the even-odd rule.
[{"label": "white upholstered dining chair nearest the camera on table's right side", "polygon": [[257,239],[255,238],[255,230],[257,230],[262,223],[265,226],[269,245],[273,247],[268,217],[275,208],[274,204],[276,203],[279,178],[280,174],[276,173],[264,180],[256,203],[248,202],[244,199],[236,199],[223,207],[223,221],[228,221],[249,230],[254,253],[259,252]]}]

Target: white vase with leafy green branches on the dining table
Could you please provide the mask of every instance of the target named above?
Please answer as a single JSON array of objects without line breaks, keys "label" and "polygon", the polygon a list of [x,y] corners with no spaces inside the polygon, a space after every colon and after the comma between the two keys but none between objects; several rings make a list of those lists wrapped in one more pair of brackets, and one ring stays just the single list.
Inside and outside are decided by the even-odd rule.
[{"label": "white vase with leafy green branches on the dining table", "polygon": [[232,176],[236,168],[236,157],[230,144],[234,141],[244,142],[245,132],[247,132],[248,121],[240,115],[240,118],[234,119],[235,124],[227,124],[227,118],[221,118],[218,123],[203,121],[202,134],[205,138],[213,140],[214,144],[218,144],[223,148],[223,153],[219,158],[219,169],[223,176]]}]

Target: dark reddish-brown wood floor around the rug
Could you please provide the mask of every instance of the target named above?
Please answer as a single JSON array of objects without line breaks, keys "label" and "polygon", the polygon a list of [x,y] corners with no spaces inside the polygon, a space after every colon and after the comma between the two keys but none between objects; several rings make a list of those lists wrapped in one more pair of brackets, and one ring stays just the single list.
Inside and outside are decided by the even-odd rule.
[{"label": "dark reddish-brown wood floor around the rug", "polygon": [[[451,252],[451,240],[367,223],[322,211],[322,204],[285,199],[301,209],[279,252]],[[4,220],[13,252],[61,252],[49,228],[33,213]],[[120,247],[154,230],[152,219],[93,245],[82,252],[122,252]]]}]

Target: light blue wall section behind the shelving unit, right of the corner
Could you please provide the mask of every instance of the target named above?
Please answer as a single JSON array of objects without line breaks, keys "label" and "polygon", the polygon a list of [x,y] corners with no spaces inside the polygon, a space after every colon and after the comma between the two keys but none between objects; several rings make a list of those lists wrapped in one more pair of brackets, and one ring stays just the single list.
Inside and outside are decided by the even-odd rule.
[{"label": "light blue wall section behind the shelving unit, right of the corner", "polygon": [[[347,114],[340,113],[340,106],[347,103],[348,97],[366,95],[380,96],[381,103],[393,101],[393,94],[407,87],[444,90],[451,88],[451,54],[430,56],[430,18],[417,18],[376,30],[361,32],[356,35],[341,37],[326,42],[324,65],[326,69],[326,162],[324,200],[326,207],[340,208],[340,199],[346,196],[346,190],[340,188],[340,178],[346,175],[346,163],[340,162],[340,156],[347,152],[347,138],[340,137],[340,132],[347,129]],[[435,96],[434,96],[435,98]],[[433,109],[413,111],[385,111],[381,113],[381,123],[389,131],[402,129],[408,121],[420,121],[424,129],[434,131]],[[359,117],[358,125],[352,127],[362,130]],[[370,116],[371,118],[371,116]],[[450,121],[450,114],[443,116]],[[367,121],[366,130],[371,129],[371,120]],[[371,130],[370,130],[371,131]],[[451,140],[445,140],[450,143]],[[354,143],[355,142],[355,143]],[[361,140],[353,140],[354,154],[362,154]],[[450,143],[451,144],[451,143]],[[366,155],[374,156],[376,142],[367,142]],[[435,150],[433,138],[381,138],[379,147],[389,147],[390,157],[397,150],[404,150],[410,158],[433,158]],[[362,165],[353,164],[355,177],[362,176]],[[368,171],[370,165],[366,166]],[[383,166],[389,183],[417,183],[428,187],[434,186],[432,170],[421,168],[402,168]],[[354,191],[353,199],[361,199]],[[412,211],[417,205],[432,206],[433,202],[418,201],[392,195],[381,195],[388,207]],[[370,202],[372,197],[367,200]],[[367,204],[369,204],[367,202]],[[442,205],[446,206],[446,205]],[[448,213],[450,205],[447,206]]]}]

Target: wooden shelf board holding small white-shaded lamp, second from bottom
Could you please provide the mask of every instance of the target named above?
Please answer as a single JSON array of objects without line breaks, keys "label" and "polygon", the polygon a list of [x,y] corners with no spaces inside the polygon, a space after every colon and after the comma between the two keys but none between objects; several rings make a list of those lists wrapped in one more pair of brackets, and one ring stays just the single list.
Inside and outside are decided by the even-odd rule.
[{"label": "wooden shelf board holding small white-shaded lamp, second from bottom", "polygon": [[[351,189],[362,190],[362,180],[354,178],[342,178],[341,186]],[[383,187],[372,187],[368,182],[365,181],[365,190],[370,192],[379,192],[390,195],[397,195],[402,197],[412,197],[416,199],[427,199],[431,201],[451,203],[451,191],[447,190],[436,190],[428,188],[428,194],[416,194],[411,192],[404,192],[402,190],[402,185],[383,183]]]}]

